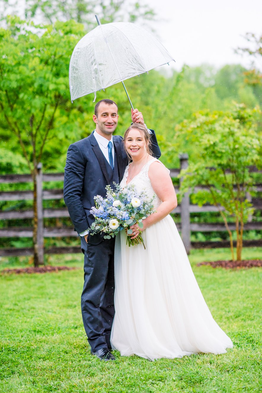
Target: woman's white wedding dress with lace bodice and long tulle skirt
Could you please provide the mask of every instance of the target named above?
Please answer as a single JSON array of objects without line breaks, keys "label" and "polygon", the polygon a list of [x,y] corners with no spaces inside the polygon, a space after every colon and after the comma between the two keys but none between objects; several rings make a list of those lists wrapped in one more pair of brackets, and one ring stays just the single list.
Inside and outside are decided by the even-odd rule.
[{"label": "woman's white wedding dress with lace bodice and long tulle skirt", "polygon": [[[148,177],[150,160],[129,184],[161,200]],[[163,164],[162,164],[163,165]],[[168,170],[168,169],[167,169]],[[126,186],[128,167],[120,185]],[[111,344],[121,355],[150,360],[192,353],[225,353],[233,347],[209,311],[191,269],[176,224],[168,215],[128,247],[121,231],[115,242],[115,317]]]}]

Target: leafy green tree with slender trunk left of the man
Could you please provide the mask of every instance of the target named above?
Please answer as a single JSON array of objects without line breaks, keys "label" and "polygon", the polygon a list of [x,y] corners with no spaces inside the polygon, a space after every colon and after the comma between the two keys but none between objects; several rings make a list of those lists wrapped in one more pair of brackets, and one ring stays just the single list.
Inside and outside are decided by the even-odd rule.
[{"label": "leafy green tree with slender trunk left of the man", "polygon": [[70,55],[83,35],[83,26],[73,21],[37,26],[17,17],[6,22],[7,28],[0,29],[0,129],[9,150],[15,152],[18,141],[33,179],[37,266],[42,262],[37,247],[38,163],[44,154],[52,162],[68,141],[86,132],[82,129],[86,111],[81,105],[71,105],[68,88]]}]

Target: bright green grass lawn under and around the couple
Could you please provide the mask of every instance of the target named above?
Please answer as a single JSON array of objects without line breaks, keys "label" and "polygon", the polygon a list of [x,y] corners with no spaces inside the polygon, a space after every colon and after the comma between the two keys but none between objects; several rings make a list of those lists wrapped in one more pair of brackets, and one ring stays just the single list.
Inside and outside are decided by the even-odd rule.
[{"label": "bright green grass lawn under and around the couple", "polygon": [[[244,258],[261,257],[261,248]],[[229,250],[194,250],[203,296],[234,348],[149,362],[137,356],[104,363],[90,354],[80,310],[82,255],[53,256],[76,266],[58,273],[0,276],[0,392],[261,392],[261,271],[196,267],[230,259]],[[12,259],[0,268],[25,264]]]}]

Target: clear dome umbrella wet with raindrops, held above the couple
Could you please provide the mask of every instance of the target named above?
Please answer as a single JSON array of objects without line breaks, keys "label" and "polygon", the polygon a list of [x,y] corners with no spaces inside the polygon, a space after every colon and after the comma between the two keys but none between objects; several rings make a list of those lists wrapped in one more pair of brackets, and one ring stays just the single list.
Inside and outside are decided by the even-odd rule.
[{"label": "clear dome umbrella wet with raindrops, held above the couple", "polygon": [[[147,30],[115,22],[87,33],[75,46],[69,66],[71,101],[152,70],[174,59]],[[125,88],[126,91],[126,88]],[[126,91],[131,107],[130,101]],[[95,101],[95,100],[94,100]]]}]

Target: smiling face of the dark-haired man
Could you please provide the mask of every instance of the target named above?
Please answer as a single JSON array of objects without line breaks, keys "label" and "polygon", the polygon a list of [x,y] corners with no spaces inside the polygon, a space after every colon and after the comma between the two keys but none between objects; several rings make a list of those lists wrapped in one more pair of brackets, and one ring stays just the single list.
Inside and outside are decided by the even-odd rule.
[{"label": "smiling face of the dark-haired man", "polygon": [[96,132],[110,140],[117,126],[117,106],[102,102],[97,108],[97,116],[93,115],[93,121],[96,123]]}]

